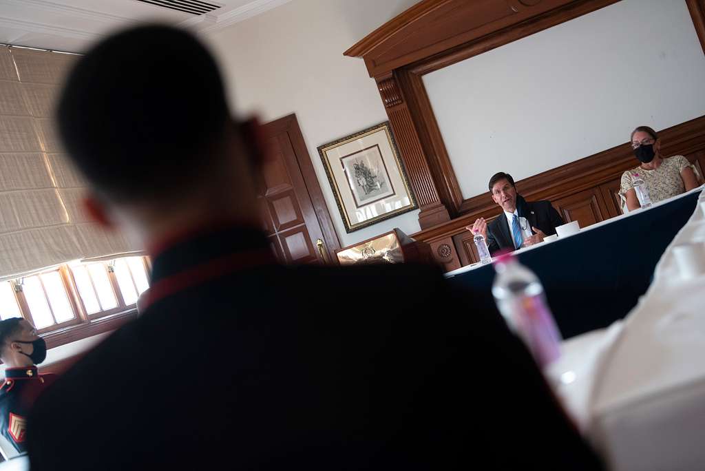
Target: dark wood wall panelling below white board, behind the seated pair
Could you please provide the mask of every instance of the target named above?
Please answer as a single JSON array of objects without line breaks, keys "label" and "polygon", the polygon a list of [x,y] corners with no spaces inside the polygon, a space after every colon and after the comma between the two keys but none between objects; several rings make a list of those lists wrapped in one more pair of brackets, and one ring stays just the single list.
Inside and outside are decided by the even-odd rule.
[{"label": "dark wood wall panelling below white board, behind the seated pair", "polygon": [[[662,130],[658,135],[662,141],[663,155],[703,152],[705,116]],[[529,201],[555,201],[620,178],[623,172],[635,168],[637,164],[632,148],[625,142],[612,149],[517,181],[517,192]],[[491,200],[489,192],[470,198],[463,207],[465,213],[462,216],[412,234],[412,237],[431,244],[448,237],[462,237],[467,232],[465,226],[474,223],[475,219],[494,219],[501,212]]]}]

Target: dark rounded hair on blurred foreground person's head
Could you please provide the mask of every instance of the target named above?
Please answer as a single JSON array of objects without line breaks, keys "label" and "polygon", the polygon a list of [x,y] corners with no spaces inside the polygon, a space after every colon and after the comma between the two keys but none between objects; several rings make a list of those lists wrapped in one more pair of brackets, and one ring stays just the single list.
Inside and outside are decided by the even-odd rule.
[{"label": "dark rounded hair on blurred foreground person's head", "polygon": [[75,164],[115,202],[192,188],[219,158],[229,120],[211,54],[159,25],[118,33],[80,59],[57,118]]}]

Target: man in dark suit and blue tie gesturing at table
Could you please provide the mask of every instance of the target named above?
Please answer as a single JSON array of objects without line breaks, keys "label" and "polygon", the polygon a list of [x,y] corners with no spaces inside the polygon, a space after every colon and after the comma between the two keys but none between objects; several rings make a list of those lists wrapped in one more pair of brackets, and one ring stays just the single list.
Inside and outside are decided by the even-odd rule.
[{"label": "man in dark suit and blue tie gesturing at table", "polygon": [[556,227],[563,224],[550,201],[527,202],[518,195],[509,173],[495,173],[489,179],[489,190],[492,200],[502,208],[502,214],[489,226],[484,218],[479,218],[466,229],[481,233],[493,255],[500,250],[517,250],[543,242],[544,237],[555,234]]}]

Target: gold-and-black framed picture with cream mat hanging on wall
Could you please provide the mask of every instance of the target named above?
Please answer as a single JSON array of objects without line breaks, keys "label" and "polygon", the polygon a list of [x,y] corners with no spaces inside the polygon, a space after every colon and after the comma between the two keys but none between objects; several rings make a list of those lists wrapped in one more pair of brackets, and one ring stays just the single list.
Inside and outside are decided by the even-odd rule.
[{"label": "gold-and-black framed picture with cream mat hanging on wall", "polygon": [[388,121],[318,152],[348,233],[417,208]]}]

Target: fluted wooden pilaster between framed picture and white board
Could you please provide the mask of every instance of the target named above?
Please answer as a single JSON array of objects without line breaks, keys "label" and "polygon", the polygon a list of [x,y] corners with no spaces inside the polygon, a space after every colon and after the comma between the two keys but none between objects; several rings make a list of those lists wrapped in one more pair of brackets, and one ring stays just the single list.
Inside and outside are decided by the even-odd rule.
[{"label": "fluted wooden pilaster between framed picture and white board", "polygon": [[421,209],[419,225],[421,228],[427,228],[449,221],[450,214],[439,198],[408,102],[397,79],[392,76],[384,78],[377,83],[377,88],[396,137],[412,191]]}]

